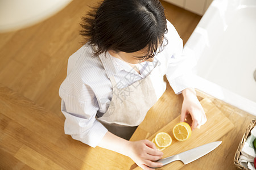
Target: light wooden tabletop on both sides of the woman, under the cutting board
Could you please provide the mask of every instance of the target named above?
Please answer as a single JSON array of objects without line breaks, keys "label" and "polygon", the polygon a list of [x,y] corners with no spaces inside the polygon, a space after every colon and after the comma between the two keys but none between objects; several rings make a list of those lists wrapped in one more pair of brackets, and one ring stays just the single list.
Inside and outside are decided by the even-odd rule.
[{"label": "light wooden tabletop on both sides of the woman, under the cutting board", "polygon": [[[236,169],[234,154],[254,116],[208,97],[233,122],[215,154],[182,169]],[[150,109],[131,140],[145,139],[180,114],[183,97],[171,87]],[[130,158],[104,148],[92,148],[64,134],[64,116],[52,114],[0,84],[0,169],[130,169]],[[155,123],[157,122],[157,123]]]}]

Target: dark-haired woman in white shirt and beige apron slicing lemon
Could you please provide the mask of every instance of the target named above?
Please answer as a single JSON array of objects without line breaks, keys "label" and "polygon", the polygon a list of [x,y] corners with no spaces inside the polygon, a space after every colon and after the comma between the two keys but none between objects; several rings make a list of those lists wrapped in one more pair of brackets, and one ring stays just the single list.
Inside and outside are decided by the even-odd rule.
[{"label": "dark-haired woman in white shirt and beige apron slicing lemon", "polygon": [[207,118],[192,87],[183,41],[158,0],[105,0],[81,24],[87,42],[68,61],[60,86],[65,133],[92,147],[129,156],[139,167],[161,167],[163,152],[148,140],[128,141],[166,90],[183,94],[181,121],[192,130]]}]

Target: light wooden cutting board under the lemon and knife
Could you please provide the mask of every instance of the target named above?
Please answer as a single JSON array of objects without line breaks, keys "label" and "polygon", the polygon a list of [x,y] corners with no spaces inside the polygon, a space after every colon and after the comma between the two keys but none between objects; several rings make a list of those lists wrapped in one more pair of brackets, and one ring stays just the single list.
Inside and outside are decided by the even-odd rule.
[{"label": "light wooden cutting board under the lemon and knife", "polygon": [[[171,135],[172,144],[163,150],[163,158],[179,154],[180,152],[184,152],[210,142],[218,141],[218,139],[234,128],[233,123],[209,99],[205,98],[200,103],[207,115],[207,122],[202,125],[200,129],[192,131],[191,137],[187,139],[187,141],[177,141],[172,134],[172,128],[180,122],[180,116],[176,117],[169,124],[158,130],[151,137],[147,138],[151,141],[160,131],[164,131]],[[214,152],[214,150],[212,152]],[[180,169],[183,166],[184,164],[182,162],[175,161],[158,169]],[[134,167],[134,165],[132,167]],[[141,168],[137,167],[135,169]]]}]

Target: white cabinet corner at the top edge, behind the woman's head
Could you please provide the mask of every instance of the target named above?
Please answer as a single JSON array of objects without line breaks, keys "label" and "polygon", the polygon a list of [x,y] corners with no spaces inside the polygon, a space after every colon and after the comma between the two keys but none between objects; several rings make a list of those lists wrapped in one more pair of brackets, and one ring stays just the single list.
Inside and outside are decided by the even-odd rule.
[{"label": "white cabinet corner at the top edge, behind the woman's head", "polygon": [[182,7],[185,10],[194,12],[198,15],[204,15],[204,12],[210,6],[213,0],[164,0],[176,6]]}]

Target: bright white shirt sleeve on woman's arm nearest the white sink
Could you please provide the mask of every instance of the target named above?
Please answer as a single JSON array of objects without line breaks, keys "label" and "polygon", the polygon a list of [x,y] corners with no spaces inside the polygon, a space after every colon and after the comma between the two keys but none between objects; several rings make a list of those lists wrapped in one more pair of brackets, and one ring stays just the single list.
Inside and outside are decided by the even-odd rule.
[{"label": "bright white shirt sleeve on woman's arm nearest the white sink", "polygon": [[167,52],[167,73],[166,78],[175,94],[180,94],[185,88],[194,87],[195,75],[192,68],[196,62],[189,54],[183,53],[183,40],[177,33],[174,25],[167,20],[168,33],[166,38],[168,45]]}]

